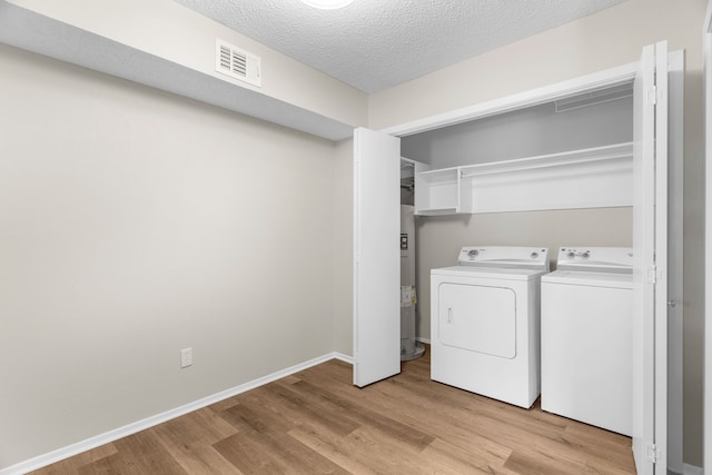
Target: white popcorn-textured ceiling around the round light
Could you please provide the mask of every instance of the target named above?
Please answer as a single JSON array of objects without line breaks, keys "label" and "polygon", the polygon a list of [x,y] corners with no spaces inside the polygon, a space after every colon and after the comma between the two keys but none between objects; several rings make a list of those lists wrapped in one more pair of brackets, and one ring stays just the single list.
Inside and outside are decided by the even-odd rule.
[{"label": "white popcorn-textured ceiling around the round light", "polygon": [[625,0],[176,0],[365,92],[376,92]]}]

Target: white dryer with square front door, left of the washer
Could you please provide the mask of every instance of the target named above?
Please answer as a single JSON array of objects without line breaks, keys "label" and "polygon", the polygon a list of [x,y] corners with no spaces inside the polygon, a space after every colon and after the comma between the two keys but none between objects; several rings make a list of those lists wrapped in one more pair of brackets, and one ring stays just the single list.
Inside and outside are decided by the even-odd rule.
[{"label": "white dryer with square front door, left of the washer", "polygon": [[540,395],[543,247],[464,247],[431,270],[431,378],[521,407]]}]

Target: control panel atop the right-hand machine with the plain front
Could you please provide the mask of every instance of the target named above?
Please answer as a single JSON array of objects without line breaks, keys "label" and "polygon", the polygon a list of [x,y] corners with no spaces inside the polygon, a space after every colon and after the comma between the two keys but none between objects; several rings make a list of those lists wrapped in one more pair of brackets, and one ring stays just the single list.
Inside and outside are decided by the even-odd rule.
[{"label": "control panel atop the right-hand machine with the plain front", "polygon": [[562,247],[558,249],[556,269],[633,274],[633,249],[630,247]]}]

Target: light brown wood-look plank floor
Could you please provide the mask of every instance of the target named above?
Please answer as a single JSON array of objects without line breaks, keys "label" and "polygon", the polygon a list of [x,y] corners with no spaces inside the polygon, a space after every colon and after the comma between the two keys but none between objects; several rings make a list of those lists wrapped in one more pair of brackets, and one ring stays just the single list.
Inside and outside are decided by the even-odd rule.
[{"label": "light brown wood-look plank floor", "polygon": [[634,474],[631,439],[429,378],[330,360],[36,474]]}]

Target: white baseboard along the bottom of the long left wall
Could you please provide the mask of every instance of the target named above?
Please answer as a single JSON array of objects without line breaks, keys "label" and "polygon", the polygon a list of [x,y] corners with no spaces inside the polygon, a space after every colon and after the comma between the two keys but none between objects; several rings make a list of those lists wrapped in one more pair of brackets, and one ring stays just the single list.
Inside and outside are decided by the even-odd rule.
[{"label": "white baseboard along the bottom of the long left wall", "polygon": [[110,442],[118,441],[119,438],[127,437],[131,434],[136,434],[138,432],[154,427],[158,424],[162,424],[176,417],[182,416],[194,410],[198,410],[202,407],[218,403],[222,399],[227,399],[228,397],[237,396],[238,394],[248,392],[250,389],[255,389],[256,387],[264,386],[268,383],[275,382],[277,379],[281,379],[295,373],[299,373],[303,369],[310,368],[312,366],[319,365],[322,363],[328,362],[329,359],[339,359],[348,364],[354,363],[350,356],[344,355],[342,353],[329,353],[327,355],[319,356],[317,358],[273,373],[261,378],[254,379],[249,383],[245,383],[239,386],[235,386],[230,389],[226,389],[220,393],[214,394],[211,396],[204,397],[201,399],[186,404],[184,406],[176,407],[175,409],[166,410],[165,413],[160,413],[155,416],[147,417],[142,420],[137,420],[135,423],[128,424],[123,427],[119,427],[119,428],[106,432],[103,434],[89,437],[76,444],[68,445],[67,447],[58,448],[57,451],[52,451],[50,453],[39,455],[28,461],[20,462],[19,464],[0,469],[0,475],[21,475],[28,472],[36,471],[38,468],[46,467],[56,462],[63,461],[65,458],[69,458],[77,454],[81,454],[82,452],[97,448]]}]

